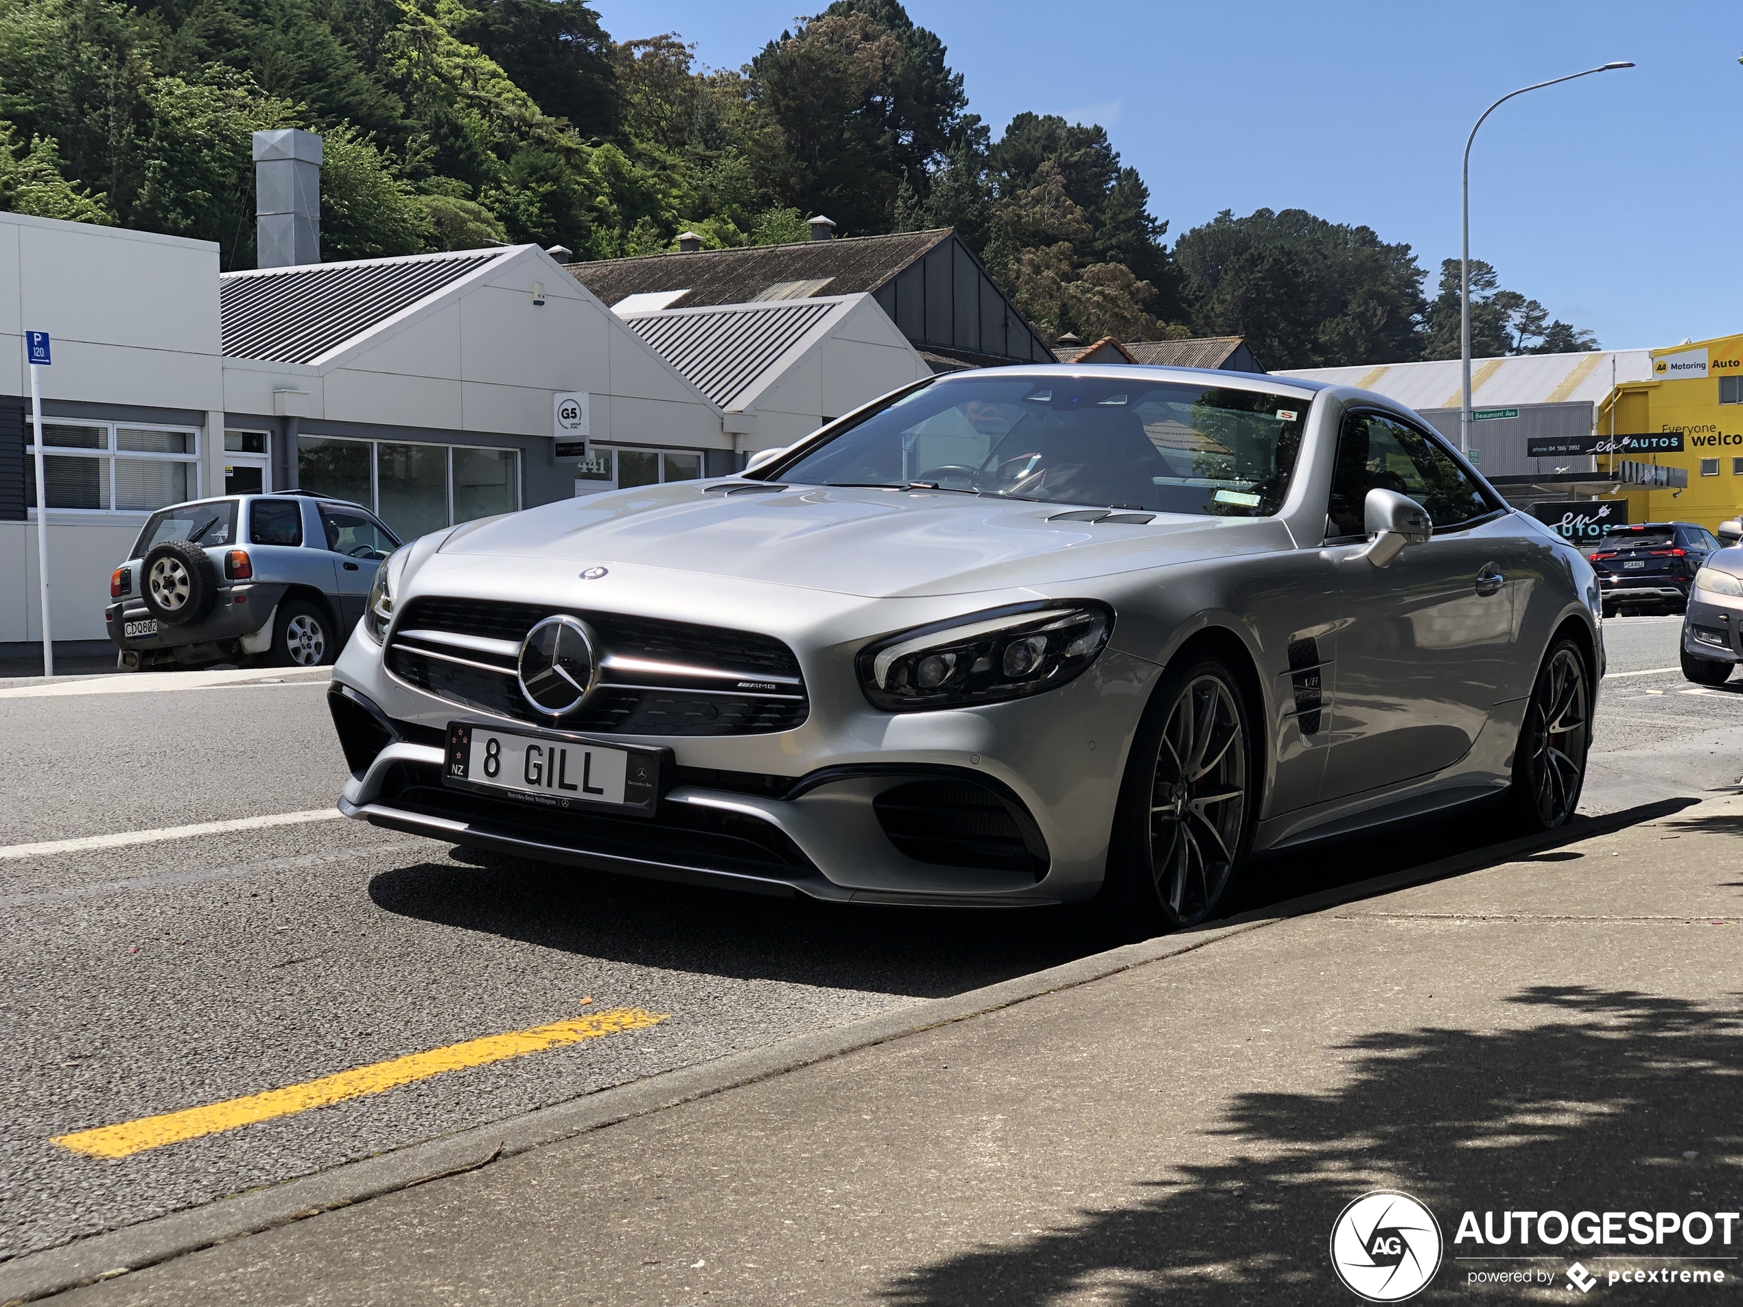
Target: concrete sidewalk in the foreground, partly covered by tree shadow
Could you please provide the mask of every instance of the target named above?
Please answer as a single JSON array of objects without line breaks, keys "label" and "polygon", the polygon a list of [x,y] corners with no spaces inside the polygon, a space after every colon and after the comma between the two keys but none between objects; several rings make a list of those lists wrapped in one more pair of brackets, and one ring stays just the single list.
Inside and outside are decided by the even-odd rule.
[{"label": "concrete sidewalk in the foreground, partly covered by tree shadow", "polygon": [[1354,1302],[1379,1187],[1469,1297],[1462,1209],[1743,1201],[1740,836],[1720,796],[1220,932],[63,1302]]}]

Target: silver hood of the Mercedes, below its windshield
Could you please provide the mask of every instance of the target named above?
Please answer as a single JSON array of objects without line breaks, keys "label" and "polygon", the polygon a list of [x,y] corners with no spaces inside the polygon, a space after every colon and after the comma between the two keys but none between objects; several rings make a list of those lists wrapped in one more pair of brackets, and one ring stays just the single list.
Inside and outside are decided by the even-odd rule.
[{"label": "silver hood of the Mercedes, below its windshield", "polygon": [[1269,518],[1157,514],[1049,521],[1063,504],[938,491],[706,483],[622,490],[462,526],[443,554],[633,565],[865,598],[1046,586],[1201,558],[1290,549]]}]

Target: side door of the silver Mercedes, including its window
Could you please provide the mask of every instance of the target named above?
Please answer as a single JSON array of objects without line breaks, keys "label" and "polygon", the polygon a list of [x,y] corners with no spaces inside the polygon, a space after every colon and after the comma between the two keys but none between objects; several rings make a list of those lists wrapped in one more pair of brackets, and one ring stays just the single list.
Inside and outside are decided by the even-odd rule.
[{"label": "side door of the silver Mercedes, including its window", "polygon": [[[1434,523],[1386,568],[1356,558],[1375,488],[1408,495]],[[1513,694],[1516,532],[1434,436],[1387,413],[1346,416],[1328,507],[1342,624],[1321,800],[1337,800],[1459,762]]]}]

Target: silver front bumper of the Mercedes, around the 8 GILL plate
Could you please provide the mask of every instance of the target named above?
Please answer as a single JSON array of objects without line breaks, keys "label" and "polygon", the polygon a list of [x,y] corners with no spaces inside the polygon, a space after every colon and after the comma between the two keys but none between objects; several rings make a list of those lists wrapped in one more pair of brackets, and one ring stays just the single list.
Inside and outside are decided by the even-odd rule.
[{"label": "silver front bumper of the Mercedes, around the 8 GILL plate", "polygon": [[354,640],[329,692],[352,769],[340,809],[451,843],[763,894],[1060,903],[1102,882],[1126,741],[1157,673],[1109,650],[1070,685],[978,709],[880,713],[854,685],[847,702],[814,697],[786,732],[594,735],[676,762],[655,817],[601,817],[444,788],[448,721],[528,725],[413,688]]}]

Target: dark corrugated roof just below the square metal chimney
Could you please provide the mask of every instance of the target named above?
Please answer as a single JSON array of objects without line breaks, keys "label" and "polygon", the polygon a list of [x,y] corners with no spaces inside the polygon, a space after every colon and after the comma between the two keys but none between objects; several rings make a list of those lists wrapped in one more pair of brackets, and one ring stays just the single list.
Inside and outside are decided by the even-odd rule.
[{"label": "dark corrugated roof just below the square metal chimney", "polygon": [[218,279],[223,352],[314,362],[509,251],[310,263]]}]

